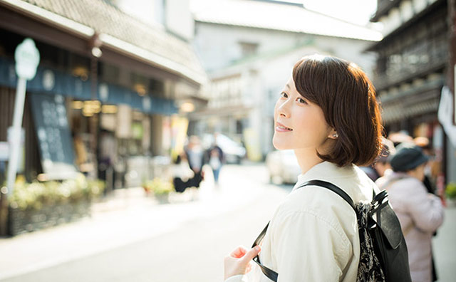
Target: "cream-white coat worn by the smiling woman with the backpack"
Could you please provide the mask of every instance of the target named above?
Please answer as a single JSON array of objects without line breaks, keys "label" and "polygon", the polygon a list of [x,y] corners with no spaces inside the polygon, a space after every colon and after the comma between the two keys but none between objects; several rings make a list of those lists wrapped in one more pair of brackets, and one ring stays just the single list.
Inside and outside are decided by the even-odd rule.
[{"label": "cream-white coat worn by the smiling woman with the backpack", "polygon": [[[353,208],[338,194],[323,187],[306,186],[311,179],[336,184],[354,202],[372,200],[377,188],[356,166],[337,167],[321,162],[300,175],[292,192],[276,209],[264,236],[261,263],[279,273],[279,282],[354,282],[360,244]],[[225,282],[270,282],[261,269]]]}]

